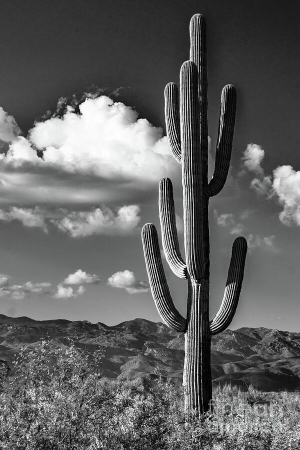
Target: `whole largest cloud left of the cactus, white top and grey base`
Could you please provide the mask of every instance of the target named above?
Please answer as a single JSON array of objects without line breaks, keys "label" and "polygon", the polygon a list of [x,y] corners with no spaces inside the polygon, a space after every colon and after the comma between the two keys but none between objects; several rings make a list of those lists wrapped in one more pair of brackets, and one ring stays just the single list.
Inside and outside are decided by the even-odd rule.
[{"label": "whole largest cloud left of the cactus, white top and grey base", "polygon": [[1,204],[125,202],[178,170],[162,128],[105,95],[35,122],[26,138],[11,131],[13,120],[3,125],[11,143],[0,154]]}]

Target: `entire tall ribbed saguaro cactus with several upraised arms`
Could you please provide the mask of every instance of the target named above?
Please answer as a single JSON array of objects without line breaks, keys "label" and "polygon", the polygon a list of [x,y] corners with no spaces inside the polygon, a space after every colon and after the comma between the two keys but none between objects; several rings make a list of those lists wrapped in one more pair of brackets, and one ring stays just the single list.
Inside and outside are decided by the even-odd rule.
[{"label": "entire tall ribbed saguaro cactus with several upraised arms", "polygon": [[221,94],[215,167],[207,182],[207,75],[205,20],[195,14],[190,20],[190,56],[180,70],[180,108],[176,84],[165,87],[165,121],[168,143],[182,166],[184,248],[181,257],[169,178],[159,184],[159,217],[162,247],[171,270],[187,279],[186,318],[172,301],[161,262],[155,226],[146,223],[142,242],[154,302],[162,320],[185,334],[183,385],[185,406],[198,414],[205,412],[211,398],[210,340],[231,322],[243,278],[247,243],[237,237],[224,296],[219,311],[209,321],[209,230],[208,200],[222,189],[229,169],[235,120],[236,93],[231,84]]}]

